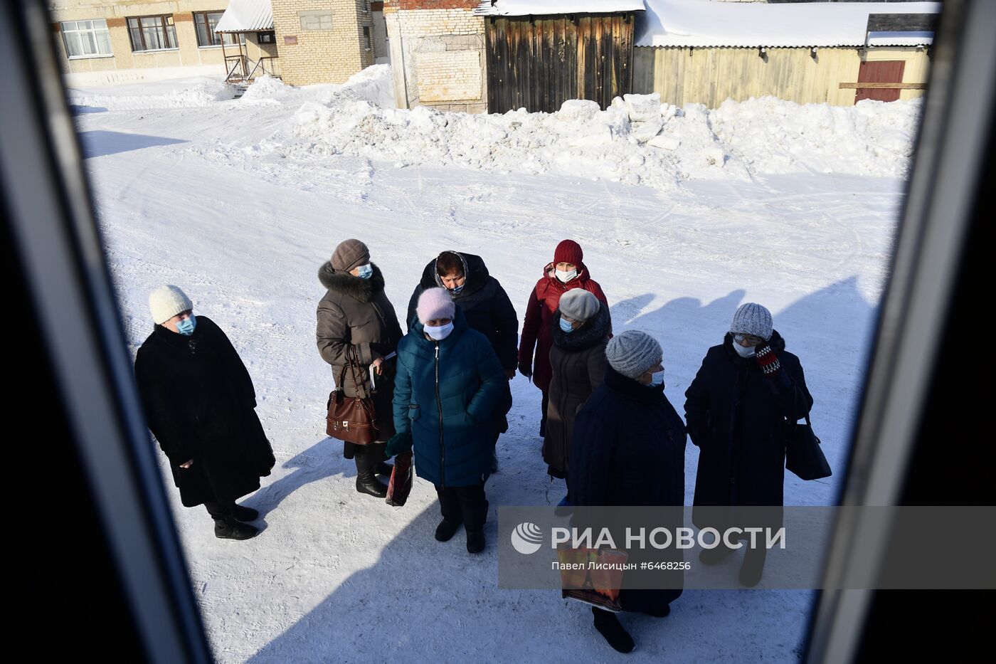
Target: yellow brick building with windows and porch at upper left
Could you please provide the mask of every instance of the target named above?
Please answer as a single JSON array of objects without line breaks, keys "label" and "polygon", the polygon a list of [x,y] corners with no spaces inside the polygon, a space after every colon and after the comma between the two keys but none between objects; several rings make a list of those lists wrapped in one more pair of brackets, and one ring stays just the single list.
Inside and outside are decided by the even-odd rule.
[{"label": "yellow brick building with windows and porch at upper left", "polygon": [[[265,71],[291,85],[308,85],[343,83],[375,62],[387,62],[382,5],[371,0],[52,0],[49,10],[69,85],[224,77],[233,66],[236,75]],[[215,32],[226,13],[225,30]],[[265,67],[255,67],[261,63]]]}]

